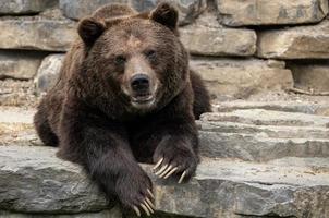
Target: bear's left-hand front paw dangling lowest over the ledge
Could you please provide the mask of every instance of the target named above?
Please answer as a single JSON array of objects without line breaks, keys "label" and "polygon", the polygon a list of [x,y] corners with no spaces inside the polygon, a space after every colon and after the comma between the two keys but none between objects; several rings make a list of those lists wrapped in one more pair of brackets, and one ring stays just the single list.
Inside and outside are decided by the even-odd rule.
[{"label": "bear's left-hand front paw dangling lowest over the ledge", "polygon": [[138,217],[139,209],[150,216],[155,209],[151,181],[142,169],[138,171],[121,173],[115,186],[117,195],[122,206],[135,210]]}]

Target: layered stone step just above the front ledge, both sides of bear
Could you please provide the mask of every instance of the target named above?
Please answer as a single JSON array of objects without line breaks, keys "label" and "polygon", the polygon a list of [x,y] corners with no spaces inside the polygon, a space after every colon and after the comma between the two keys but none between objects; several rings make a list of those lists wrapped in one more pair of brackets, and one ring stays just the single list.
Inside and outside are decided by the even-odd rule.
[{"label": "layered stone step just above the front ledge, both sides of bear", "polygon": [[[32,124],[33,114],[34,110],[1,110],[0,145],[42,145]],[[329,156],[327,128],[255,125],[204,119],[197,121],[204,157],[268,161],[289,156]]]}]

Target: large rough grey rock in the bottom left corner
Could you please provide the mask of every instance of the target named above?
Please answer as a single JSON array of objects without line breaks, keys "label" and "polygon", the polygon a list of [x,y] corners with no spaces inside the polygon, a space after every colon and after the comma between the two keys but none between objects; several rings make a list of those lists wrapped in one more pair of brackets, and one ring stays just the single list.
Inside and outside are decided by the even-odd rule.
[{"label": "large rough grey rock in the bottom left corner", "polygon": [[58,159],[56,149],[17,149],[15,146],[1,146],[0,149],[3,152],[0,155],[1,209],[64,214],[107,208],[105,196],[81,168]]}]

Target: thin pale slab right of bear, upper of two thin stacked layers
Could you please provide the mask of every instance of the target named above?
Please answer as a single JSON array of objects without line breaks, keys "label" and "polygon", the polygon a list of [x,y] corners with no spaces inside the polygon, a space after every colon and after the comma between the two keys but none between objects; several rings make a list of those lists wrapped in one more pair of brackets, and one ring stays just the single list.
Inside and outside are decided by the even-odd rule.
[{"label": "thin pale slab right of bear, upper of two thin stacked layers", "polygon": [[329,117],[264,109],[234,110],[232,112],[205,113],[203,121],[239,122],[256,125],[329,128]]}]

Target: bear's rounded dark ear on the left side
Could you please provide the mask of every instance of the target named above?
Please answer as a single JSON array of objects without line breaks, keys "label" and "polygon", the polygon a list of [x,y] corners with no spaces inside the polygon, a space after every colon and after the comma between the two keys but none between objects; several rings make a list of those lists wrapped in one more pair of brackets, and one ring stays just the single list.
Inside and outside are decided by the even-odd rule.
[{"label": "bear's rounded dark ear on the left side", "polygon": [[86,17],[78,23],[77,33],[86,46],[93,46],[105,29],[105,22],[94,17]]}]

